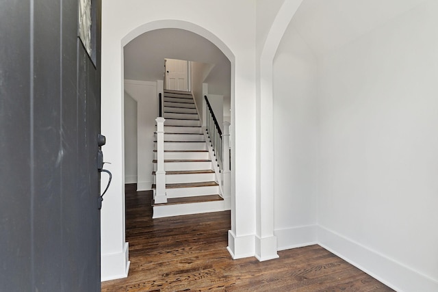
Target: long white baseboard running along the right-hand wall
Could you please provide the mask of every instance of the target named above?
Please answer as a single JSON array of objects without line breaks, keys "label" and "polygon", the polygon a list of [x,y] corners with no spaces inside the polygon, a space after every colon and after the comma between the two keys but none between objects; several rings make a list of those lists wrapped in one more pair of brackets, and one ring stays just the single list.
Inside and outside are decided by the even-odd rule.
[{"label": "long white baseboard running along the right-hand wall", "polygon": [[323,226],[318,244],[398,292],[438,291],[437,280]]}]

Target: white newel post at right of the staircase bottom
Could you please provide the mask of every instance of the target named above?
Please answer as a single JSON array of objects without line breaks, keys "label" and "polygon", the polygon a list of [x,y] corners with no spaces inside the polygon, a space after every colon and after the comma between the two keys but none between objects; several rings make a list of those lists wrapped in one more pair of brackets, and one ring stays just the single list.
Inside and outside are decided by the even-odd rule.
[{"label": "white newel post at right of the staircase bottom", "polygon": [[230,171],[230,123],[224,122],[222,133],[222,180],[225,209],[231,209],[231,171]]}]

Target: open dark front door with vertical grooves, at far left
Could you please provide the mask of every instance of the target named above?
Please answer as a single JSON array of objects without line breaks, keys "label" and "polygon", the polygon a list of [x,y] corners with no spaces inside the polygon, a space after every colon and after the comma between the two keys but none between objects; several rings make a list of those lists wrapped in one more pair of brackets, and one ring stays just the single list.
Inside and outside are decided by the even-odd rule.
[{"label": "open dark front door with vertical grooves, at far left", "polygon": [[100,291],[100,0],[0,1],[0,291]]}]

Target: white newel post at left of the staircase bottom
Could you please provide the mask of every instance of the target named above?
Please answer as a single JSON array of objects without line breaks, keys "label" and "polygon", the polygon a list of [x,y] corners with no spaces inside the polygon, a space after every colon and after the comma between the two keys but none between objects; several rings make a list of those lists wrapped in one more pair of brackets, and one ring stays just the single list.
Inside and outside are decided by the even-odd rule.
[{"label": "white newel post at left of the staircase bottom", "polygon": [[157,121],[157,170],[155,171],[155,203],[166,203],[166,172],[164,171],[164,118]]}]

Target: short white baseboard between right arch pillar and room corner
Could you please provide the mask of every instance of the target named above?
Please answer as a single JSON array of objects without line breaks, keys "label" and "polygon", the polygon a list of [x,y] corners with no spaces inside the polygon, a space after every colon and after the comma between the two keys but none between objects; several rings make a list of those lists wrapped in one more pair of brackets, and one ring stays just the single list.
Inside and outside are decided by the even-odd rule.
[{"label": "short white baseboard between right arch pillar and room corner", "polygon": [[277,250],[289,250],[317,244],[317,227],[316,225],[307,225],[274,230],[274,235],[277,238]]}]

